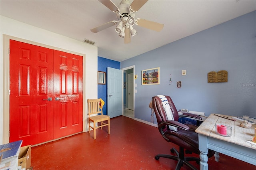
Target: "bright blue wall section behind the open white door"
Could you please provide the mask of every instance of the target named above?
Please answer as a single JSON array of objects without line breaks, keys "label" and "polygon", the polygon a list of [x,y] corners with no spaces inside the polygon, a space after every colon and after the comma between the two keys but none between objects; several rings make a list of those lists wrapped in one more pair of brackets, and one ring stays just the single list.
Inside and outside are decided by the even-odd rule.
[{"label": "bright blue wall section behind the open white door", "polygon": [[114,69],[120,69],[120,62],[114,61],[111,59],[106,59],[103,57],[98,57],[98,71],[104,71],[106,72],[106,85],[98,85],[98,99],[102,98],[102,100],[105,102],[105,105],[103,106],[103,114],[107,115],[107,67],[112,67]]}]

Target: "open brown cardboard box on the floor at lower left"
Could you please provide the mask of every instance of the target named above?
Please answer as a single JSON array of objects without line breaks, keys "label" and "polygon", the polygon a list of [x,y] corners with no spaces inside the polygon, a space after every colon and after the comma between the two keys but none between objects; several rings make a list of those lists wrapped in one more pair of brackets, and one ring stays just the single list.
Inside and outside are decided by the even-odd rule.
[{"label": "open brown cardboard box on the floor at lower left", "polygon": [[31,166],[31,145],[20,147],[18,166],[21,168],[30,168]]}]

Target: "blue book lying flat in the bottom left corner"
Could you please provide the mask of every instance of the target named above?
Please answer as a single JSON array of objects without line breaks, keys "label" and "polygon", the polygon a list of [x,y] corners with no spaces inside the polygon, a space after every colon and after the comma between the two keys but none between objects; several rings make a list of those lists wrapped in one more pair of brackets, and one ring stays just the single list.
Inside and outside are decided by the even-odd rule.
[{"label": "blue book lying flat in the bottom left corner", "polygon": [[12,160],[16,156],[18,156],[18,152],[20,151],[20,146],[22,144],[22,140],[11,142],[8,144],[2,144],[0,146],[1,154],[1,162],[6,162],[8,160]]}]

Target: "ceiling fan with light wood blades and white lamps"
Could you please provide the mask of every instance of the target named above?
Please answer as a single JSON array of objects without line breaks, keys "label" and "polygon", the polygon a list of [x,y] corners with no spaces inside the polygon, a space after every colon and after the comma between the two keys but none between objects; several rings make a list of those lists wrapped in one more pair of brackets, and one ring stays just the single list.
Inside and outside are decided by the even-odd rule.
[{"label": "ceiling fan with light wood blades and white lamps", "polygon": [[133,0],[132,4],[128,0],[122,0],[117,7],[111,0],[98,0],[112,12],[116,13],[118,21],[110,21],[96,28],[92,28],[91,32],[97,33],[111,26],[117,25],[115,30],[120,37],[124,38],[124,43],[131,42],[131,36],[137,34],[133,28],[134,25],[138,25],[144,28],[148,28],[154,31],[161,31],[164,28],[164,24],[157,22],[144,20],[141,18],[135,19],[135,13],[148,1],[148,0]]}]

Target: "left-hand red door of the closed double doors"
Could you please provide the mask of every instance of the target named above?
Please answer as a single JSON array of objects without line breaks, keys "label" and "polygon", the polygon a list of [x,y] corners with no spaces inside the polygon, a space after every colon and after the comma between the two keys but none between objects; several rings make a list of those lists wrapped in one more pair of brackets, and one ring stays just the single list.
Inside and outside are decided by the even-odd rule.
[{"label": "left-hand red door of the closed double doors", "polygon": [[53,138],[53,50],[10,40],[10,142]]}]

